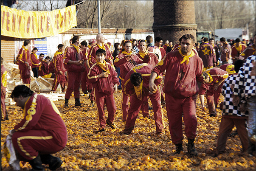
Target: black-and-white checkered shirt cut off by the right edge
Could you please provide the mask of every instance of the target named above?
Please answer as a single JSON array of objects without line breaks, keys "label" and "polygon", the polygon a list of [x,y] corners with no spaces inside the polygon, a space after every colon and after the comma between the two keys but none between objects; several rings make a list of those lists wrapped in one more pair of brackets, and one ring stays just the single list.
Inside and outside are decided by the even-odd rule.
[{"label": "black-and-white checkered shirt cut off by the right edge", "polygon": [[255,61],[255,55],[249,56],[240,68],[236,77],[234,95],[244,94],[245,98],[255,96],[255,76],[250,76],[250,72],[253,69],[253,61]]}]

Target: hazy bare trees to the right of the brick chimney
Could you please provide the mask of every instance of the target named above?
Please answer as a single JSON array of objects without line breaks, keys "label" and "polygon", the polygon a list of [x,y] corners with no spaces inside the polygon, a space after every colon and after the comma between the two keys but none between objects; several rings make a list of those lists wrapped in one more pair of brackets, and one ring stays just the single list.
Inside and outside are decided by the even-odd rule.
[{"label": "hazy bare trees to the right of the brick chimney", "polygon": [[246,28],[255,33],[255,1],[195,0],[197,28],[214,31],[223,28]]}]

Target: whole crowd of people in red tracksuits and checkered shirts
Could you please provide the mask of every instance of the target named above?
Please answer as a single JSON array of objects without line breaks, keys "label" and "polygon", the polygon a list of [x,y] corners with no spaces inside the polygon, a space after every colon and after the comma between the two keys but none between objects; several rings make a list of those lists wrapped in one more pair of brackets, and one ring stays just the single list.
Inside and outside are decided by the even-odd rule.
[{"label": "whole crowd of people in red tracksuits and checkered shirts", "polygon": [[[81,42],[80,36],[74,35],[66,48],[58,45],[52,60],[49,56],[44,58],[42,53],[37,59],[36,47],[30,54],[30,40],[25,40],[17,56],[17,64],[24,84],[31,81],[31,77],[27,76],[30,70],[35,77],[54,78],[51,91],[56,91],[58,84],[61,84],[62,91],[65,91],[66,108],[70,107],[72,93],[74,106],[82,106],[80,87],[84,94],[89,93],[90,107],[96,104],[98,110],[98,132],[107,131],[107,125],[111,129],[116,128],[113,93],[118,89],[122,91],[121,109],[125,123],[121,134],[132,133],[140,109],[143,117],[150,118],[150,100],[156,133],[164,135],[162,107],[165,106],[172,142],[176,146],[174,154],[183,151],[184,122],[188,154],[197,156],[194,141],[197,136],[196,100],[199,96],[202,110],[206,111],[208,107],[209,116],[217,116],[218,105],[222,109],[216,155],[225,152],[227,137],[234,126],[242,142],[242,151],[253,154],[255,39],[254,34],[253,43],[245,45],[237,38],[230,45],[225,37],[220,38],[220,42],[216,40],[216,44],[214,39],[202,37],[199,45],[193,35],[184,34],[177,44],[166,40],[163,45],[162,37],[155,37],[153,42],[149,35],[145,39],[116,42],[112,50],[111,44],[105,42],[104,34],[97,34],[96,39],[90,39],[88,43],[85,40]],[[1,120],[5,120],[8,117],[4,107],[2,110],[2,87],[4,97],[6,74],[4,67],[2,72],[2,66],[1,58]],[[224,101],[219,103],[221,94]],[[34,169],[41,170],[42,163],[49,164],[50,169],[58,168],[62,161],[50,154],[63,149],[67,142],[65,124],[58,109],[47,98],[26,86],[15,87],[11,97],[17,106],[25,109],[24,119],[11,131],[15,149]],[[45,108],[42,103],[51,107]],[[45,115],[52,115],[56,120],[49,120]],[[35,135],[41,138],[35,138]],[[31,138],[20,141],[24,136]],[[26,144],[24,148],[27,152],[22,149],[23,145],[18,145],[20,143]]]}]

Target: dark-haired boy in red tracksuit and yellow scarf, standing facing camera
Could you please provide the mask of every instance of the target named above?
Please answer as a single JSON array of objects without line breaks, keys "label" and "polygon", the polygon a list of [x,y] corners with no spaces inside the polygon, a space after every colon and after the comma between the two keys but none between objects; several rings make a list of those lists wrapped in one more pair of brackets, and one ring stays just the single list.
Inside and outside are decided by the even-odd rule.
[{"label": "dark-haired boy in red tracksuit and yellow scarf, standing facing camera", "polygon": [[[117,92],[119,81],[115,69],[105,61],[106,51],[96,51],[96,63],[90,67],[88,82],[93,84],[95,89],[95,100],[98,109],[99,132],[105,131],[106,123],[113,129],[116,128],[115,120],[115,98],[113,93]],[[108,118],[105,120],[104,105],[107,106]]]}]

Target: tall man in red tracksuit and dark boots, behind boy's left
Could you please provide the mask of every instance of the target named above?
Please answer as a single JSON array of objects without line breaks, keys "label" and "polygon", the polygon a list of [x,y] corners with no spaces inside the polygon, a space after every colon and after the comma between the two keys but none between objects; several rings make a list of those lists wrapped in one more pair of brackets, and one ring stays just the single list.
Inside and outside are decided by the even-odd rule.
[{"label": "tall man in red tracksuit and dark boots, behind boy's left", "polygon": [[82,72],[85,71],[84,55],[81,48],[79,48],[80,36],[72,37],[72,45],[65,49],[64,66],[68,70],[68,88],[65,93],[65,107],[68,107],[68,101],[72,92],[74,92],[75,106],[82,106],[80,103],[80,85]]}]

